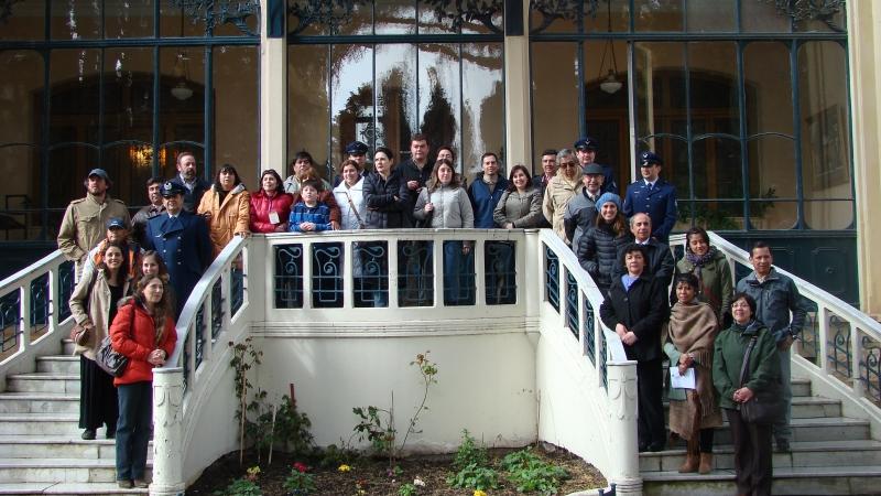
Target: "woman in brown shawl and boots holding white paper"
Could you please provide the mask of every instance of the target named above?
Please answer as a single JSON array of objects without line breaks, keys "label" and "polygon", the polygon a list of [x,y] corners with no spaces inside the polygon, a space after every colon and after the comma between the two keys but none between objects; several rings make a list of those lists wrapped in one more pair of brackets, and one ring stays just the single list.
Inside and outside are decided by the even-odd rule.
[{"label": "woman in brown shawl and boots holding white paper", "polygon": [[708,474],[713,470],[713,429],[722,423],[711,373],[713,346],[719,326],[713,308],[695,299],[698,281],[694,274],[678,276],[674,288],[678,301],[671,310],[664,353],[679,374],[695,368],[697,388],[671,387],[670,431],[688,443],[679,472]]}]

